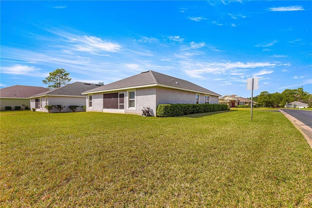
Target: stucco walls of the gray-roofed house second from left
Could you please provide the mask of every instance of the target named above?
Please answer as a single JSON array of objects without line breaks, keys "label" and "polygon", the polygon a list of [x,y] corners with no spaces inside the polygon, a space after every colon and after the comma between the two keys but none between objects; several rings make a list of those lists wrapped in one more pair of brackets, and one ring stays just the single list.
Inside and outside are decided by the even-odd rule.
[{"label": "stucco walls of the gray-roofed house second from left", "polygon": [[[63,106],[66,106],[65,108],[61,110],[61,112],[72,112],[72,110],[69,108],[70,105],[79,105],[76,112],[84,111],[84,109],[81,106],[86,105],[85,97],[47,96],[47,97],[39,97],[39,98],[30,99],[30,109],[36,107],[36,103],[35,103],[36,99],[41,99],[40,108],[36,109],[36,111],[41,111],[41,112],[48,112],[48,110],[45,109],[44,106],[50,105],[50,104],[53,104],[53,105],[61,104]],[[59,110],[56,108],[51,110],[51,113],[55,113],[55,112],[59,112]]]}]

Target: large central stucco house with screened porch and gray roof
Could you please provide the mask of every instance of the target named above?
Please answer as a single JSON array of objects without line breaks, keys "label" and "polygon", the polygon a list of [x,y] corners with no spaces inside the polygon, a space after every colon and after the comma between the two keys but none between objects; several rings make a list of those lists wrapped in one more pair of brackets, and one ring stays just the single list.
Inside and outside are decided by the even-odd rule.
[{"label": "large central stucco house with screened porch and gray roof", "polygon": [[158,104],[217,104],[219,94],[185,80],[147,71],[83,92],[87,111],[142,114],[150,107],[156,116]]}]

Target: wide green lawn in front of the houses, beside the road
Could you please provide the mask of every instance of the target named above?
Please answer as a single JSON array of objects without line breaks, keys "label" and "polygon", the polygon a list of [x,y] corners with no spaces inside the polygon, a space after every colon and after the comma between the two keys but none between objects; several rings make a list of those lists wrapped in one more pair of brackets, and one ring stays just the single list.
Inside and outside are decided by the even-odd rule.
[{"label": "wide green lawn in front of the houses, beside the road", "polygon": [[0,112],[0,207],[311,207],[312,149],[281,113]]}]

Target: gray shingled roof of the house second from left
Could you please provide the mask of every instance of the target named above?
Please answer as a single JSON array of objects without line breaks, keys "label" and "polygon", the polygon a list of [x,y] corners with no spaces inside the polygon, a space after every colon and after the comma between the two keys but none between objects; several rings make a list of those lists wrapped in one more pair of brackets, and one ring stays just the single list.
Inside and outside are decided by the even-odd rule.
[{"label": "gray shingled roof of the house second from left", "polygon": [[71,83],[71,84],[66,84],[64,86],[51,89],[49,91],[45,91],[42,93],[39,93],[35,96],[32,97],[40,97],[44,95],[62,95],[62,96],[84,96],[81,93],[87,90],[91,90],[94,88],[97,88],[101,86],[100,84],[93,84],[93,83]]}]

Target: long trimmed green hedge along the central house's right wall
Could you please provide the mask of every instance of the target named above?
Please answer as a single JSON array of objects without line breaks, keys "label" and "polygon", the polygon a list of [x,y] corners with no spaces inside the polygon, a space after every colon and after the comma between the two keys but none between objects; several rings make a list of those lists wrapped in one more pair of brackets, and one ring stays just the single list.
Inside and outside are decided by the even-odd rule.
[{"label": "long trimmed green hedge along the central house's right wall", "polygon": [[159,104],[157,117],[175,117],[194,113],[228,110],[227,104]]}]

